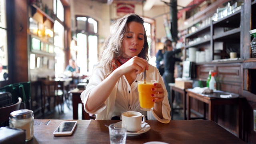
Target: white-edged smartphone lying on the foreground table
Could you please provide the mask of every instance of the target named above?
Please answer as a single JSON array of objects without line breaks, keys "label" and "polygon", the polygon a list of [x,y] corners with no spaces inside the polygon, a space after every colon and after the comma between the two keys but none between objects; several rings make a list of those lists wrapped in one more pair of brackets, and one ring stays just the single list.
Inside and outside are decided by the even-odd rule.
[{"label": "white-edged smartphone lying on the foreground table", "polygon": [[70,136],[76,128],[77,121],[63,121],[53,132],[54,136]]}]

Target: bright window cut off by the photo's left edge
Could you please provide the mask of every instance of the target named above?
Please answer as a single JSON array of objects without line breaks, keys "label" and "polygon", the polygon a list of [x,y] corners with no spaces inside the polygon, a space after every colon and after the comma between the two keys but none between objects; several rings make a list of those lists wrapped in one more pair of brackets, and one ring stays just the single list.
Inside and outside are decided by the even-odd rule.
[{"label": "bright window cut off by the photo's left edge", "polygon": [[0,0],[0,81],[8,80],[6,0]]}]

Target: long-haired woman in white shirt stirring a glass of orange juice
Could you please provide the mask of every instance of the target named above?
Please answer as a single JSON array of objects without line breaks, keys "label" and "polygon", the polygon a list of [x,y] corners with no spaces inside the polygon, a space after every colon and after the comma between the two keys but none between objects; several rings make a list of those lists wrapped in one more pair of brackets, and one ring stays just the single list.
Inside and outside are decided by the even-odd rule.
[{"label": "long-haired woman in white shirt stirring a glass of orange juice", "polygon": [[[170,105],[164,82],[156,67],[148,64],[148,42],[144,20],[136,14],[127,14],[113,24],[108,46],[100,63],[94,68],[86,90],[81,94],[84,109],[97,114],[96,120],[120,119],[126,111],[137,111],[148,120],[170,122]],[[140,110],[137,82],[147,70],[148,80],[154,84],[154,110]]]}]

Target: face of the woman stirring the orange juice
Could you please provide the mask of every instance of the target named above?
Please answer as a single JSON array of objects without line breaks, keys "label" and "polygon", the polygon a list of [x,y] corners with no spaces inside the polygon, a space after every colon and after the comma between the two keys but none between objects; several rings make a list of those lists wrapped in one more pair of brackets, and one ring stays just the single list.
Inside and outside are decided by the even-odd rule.
[{"label": "face of the woman stirring the orange juice", "polygon": [[140,54],[144,44],[144,26],[138,22],[129,22],[127,24],[128,32],[122,42],[122,57],[131,58]]}]

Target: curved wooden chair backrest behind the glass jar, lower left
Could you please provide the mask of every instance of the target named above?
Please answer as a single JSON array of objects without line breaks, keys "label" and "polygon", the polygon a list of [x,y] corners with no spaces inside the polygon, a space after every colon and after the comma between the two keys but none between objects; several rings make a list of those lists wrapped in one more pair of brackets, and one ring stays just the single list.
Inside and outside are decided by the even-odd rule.
[{"label": "curved wooden chair backrest behind the glass jar, lower left", "polygon": [[18,98],[18,102],[16,104],[12,104],[10,106],[0,108],[0,123],[9,120],[9,116],[11,112],[20,109],[21,101],[22,101],[22,98]]}]

